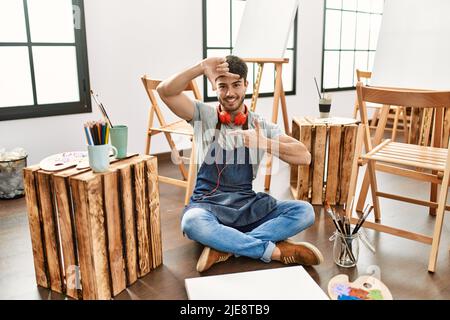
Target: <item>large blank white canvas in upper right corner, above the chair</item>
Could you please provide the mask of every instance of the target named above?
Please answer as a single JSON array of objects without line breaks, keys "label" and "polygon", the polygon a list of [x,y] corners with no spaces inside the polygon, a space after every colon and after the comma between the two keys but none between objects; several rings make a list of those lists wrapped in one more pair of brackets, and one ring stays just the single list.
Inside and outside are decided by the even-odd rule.
[{"label": "large blank white canvas in upper right corner, above the chair", "polygon": [[450,1],[386,1],[372,86],[450,89]]}]

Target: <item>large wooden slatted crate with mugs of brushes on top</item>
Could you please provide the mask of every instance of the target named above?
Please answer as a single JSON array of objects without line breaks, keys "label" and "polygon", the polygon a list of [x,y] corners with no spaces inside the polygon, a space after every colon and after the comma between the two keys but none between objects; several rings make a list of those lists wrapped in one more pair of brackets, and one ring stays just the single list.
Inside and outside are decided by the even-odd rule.
[{"label": "large wooden slatted crate with mugs of brushes on top", "polygon": [[39,286],[111,299],[162,264],[157,160],[133,156],[106,173],[24,169]]}]

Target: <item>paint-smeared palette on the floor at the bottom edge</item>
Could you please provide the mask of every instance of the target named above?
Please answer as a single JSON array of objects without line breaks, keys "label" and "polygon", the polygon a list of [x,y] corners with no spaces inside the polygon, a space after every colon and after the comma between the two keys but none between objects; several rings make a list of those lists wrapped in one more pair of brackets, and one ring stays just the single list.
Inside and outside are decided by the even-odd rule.
[{"label": "paint-smeared palette on the floor at the bottom edge", "polygon": [[350,282],[347,275],[339,274],[328,283],[328,295],[332,300],[393,300],[389,289],[373,276]]}]

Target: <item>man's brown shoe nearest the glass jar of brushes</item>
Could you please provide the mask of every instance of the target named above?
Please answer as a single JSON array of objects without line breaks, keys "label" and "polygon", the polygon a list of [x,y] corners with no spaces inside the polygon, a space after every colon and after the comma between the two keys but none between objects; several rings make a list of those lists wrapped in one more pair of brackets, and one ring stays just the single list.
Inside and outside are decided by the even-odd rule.
[{"label": "man's brown shoe nearest the glass jar of brushes", "polygon": [[322,253],[308,242],[285,240],[277,243],[280,261],[284,264],[318,265],[323,262]]}]

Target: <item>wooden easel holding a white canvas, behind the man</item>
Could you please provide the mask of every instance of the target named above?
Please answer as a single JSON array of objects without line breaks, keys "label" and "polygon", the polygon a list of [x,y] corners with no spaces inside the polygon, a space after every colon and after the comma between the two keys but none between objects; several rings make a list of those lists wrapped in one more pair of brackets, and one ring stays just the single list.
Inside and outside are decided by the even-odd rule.
[{"label": "wooden easel holding a white canvas, behind the man", "polygon": [[[233,54],[245,62],[257,63],[258,71],[253,84],[251,111],[255,111],[259,96],[264,64],[275,65],[274,104],[272,122],[277,123],[278,107],[281,103],[286,134],[290,135],[289,117],[283,88],[283,64],[289,33],[298,9],[298,0],[247,0],[242,16]],[[270,189],[272,155],[267,156],[264,189]]]}]

